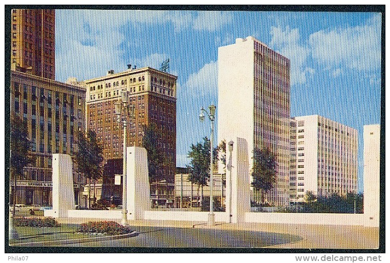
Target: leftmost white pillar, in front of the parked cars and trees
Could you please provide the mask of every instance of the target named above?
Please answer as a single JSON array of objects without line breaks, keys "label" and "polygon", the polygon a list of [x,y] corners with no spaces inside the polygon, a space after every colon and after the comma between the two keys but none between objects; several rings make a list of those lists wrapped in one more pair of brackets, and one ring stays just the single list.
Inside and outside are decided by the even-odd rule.
[{"label": "leftmost white pillar, in front of the parked cars and trees", "polygon": [[53,154],[52,194],[53,209],[45,211],[45,216],[68,217],[68,210],[75,208],[72,159],[68,154]]}]

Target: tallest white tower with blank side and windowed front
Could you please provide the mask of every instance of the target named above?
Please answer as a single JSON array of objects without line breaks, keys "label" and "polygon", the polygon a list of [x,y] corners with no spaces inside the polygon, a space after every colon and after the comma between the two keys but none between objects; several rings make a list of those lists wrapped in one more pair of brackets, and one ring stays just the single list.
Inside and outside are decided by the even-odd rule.
[{"label": "tallest white tower with blank side and windowed front", "polygon": [[244,138],[250,155],[255,147],[271,149],[277,176],[266,201],[275,206],[289,202],[289,125],[290,60],[252,36],[220,47],[218,140]]}]

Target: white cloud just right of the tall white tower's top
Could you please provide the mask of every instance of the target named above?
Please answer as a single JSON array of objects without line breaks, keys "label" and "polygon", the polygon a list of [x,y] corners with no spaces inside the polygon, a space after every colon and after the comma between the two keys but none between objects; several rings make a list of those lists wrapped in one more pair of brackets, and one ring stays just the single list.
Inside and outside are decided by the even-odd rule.
[{"label": "white cloud just right of the tall white tower's top", "polygon": [[290,29],[288,26],[285,30],[271,27],[270,33],[272,35],[270,46],[290,59],[291,85],[305,83],[308,75],[314,73],[314,69],[307,67],[310,49],[299,43],[299,30]]}]

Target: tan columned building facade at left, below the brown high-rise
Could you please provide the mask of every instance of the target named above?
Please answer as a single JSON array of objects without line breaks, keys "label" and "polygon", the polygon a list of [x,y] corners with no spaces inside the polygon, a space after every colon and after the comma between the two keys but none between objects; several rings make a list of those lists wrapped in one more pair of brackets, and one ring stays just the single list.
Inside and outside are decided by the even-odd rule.
[{"label": "tan columned building facade at left, below the brown high-rise", "polygon": [[[11,116],[21,118],[26,125],[33,157],[24,176],[16,178],[16,204],[50,206],[52,154],[73,156],[77,151],[77,133],[85,129],[85,90],[15,69],[11,71]],[[76,202],[84,183],[75,169]]]}]

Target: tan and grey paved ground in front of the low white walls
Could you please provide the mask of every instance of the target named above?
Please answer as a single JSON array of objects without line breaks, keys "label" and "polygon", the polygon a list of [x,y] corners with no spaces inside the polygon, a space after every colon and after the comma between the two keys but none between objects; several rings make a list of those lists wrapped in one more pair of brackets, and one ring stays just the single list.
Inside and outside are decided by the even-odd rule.
[{"label": "tan and grey paved ground in front of the low white walls", "polygon": [[[59,219],[64,224],[80,224],[90,220],[88,218]],[[223,222],[216,224],[214,227],[209,227],[205,222],[199,221],[134,220],[130,221],[129,225],[139,233],[136,237],[66,246],[286,249],[376,249],[379,247],[378,228]]]}]

